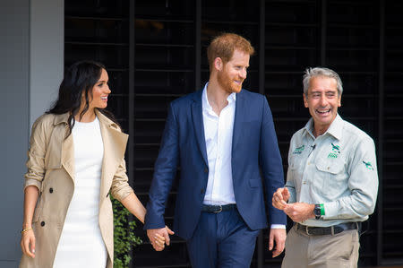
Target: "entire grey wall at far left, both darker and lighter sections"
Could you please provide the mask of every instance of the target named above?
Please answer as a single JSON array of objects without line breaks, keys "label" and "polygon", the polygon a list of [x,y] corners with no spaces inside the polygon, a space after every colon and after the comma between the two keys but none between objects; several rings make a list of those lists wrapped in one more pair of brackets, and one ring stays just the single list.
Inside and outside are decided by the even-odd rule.
[{"label": "entire grey wall at far left, both darker and lighter sections", "polygon": [[64,1],[0,1],[0,40],[0,267],[14,268],[30,126],[63,78]]}]

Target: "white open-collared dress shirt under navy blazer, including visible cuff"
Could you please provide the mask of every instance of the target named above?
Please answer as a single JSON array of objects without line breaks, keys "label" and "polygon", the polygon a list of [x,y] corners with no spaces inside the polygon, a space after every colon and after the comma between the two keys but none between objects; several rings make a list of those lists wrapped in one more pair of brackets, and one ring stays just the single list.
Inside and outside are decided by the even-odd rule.
[{"label": "white open-collared dress shirt under navy blazer, including visible cuff", "polygon": [[[201,107],[206,141],[209,178],[204,204],[236,203],[232,179],[232,138],[236,110],[236,93],[227,97],[228,104],[219,116],[213,111],[207,98],[207,85],[201,94]],[[271,224],[271,229],[286,229],[283,224]]]}]

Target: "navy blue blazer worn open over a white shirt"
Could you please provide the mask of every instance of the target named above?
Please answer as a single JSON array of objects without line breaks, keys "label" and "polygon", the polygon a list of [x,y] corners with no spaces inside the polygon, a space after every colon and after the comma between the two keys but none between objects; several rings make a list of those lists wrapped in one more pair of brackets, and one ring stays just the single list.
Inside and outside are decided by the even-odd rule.
[{"label": "navy blue blazer worn open over a white shirt", "polygon": [[[199,221],[209,174],[201,93],[195,91],[169,105],[144,229],[165,226],[165,204],[178,166],[174,231],[181,238],[191,238]],[[266,228],[268,219],[270,224],[286,224],[285,213],[271,205],[273,193],[284,186],[284,177],[269,104],[261,94],[246,90],[236,94],[232,177],[236,207],[250,229]]]}]

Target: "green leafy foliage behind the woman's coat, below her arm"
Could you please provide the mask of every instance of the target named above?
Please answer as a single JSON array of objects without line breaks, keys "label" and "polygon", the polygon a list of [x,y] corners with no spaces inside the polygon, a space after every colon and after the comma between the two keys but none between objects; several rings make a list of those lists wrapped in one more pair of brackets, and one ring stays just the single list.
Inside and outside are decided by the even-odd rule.
[{"label": "green leafy foliage behind the woman's coat, below her arm", "polygon": [[136,222],[128,220],[131,213],[112,196],[111,200],[114,210],[114,268],[127,268],[132,259],[130,250],[142,241],[134,235]]}]

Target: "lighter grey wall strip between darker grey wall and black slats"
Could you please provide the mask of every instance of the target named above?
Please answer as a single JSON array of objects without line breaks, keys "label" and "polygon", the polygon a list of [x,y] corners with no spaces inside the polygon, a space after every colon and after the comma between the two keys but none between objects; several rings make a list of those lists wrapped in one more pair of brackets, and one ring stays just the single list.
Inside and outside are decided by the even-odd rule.
[{"label": "lighter grey wall strip between darker grey wall and black slats", "polygon": [[64,0],[30,1],[30,125],[57,98],[64,72]]}]

